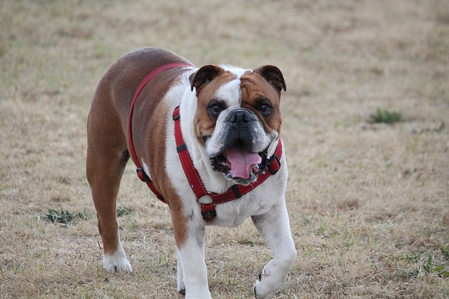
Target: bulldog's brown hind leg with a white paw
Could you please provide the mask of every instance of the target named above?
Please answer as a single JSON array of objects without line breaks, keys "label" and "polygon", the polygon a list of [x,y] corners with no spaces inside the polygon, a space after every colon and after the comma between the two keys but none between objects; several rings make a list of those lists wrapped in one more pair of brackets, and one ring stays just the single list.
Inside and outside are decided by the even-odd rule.
[{"label": "bulldog's brown hind leg with a white paw", "polygon": [[94,100],[88,117],[86,174],[97,210],[103,266],[107,272],[132,271],[121,245],[116,220],[116,199],[128,159],[126,138],[119,119]]}]

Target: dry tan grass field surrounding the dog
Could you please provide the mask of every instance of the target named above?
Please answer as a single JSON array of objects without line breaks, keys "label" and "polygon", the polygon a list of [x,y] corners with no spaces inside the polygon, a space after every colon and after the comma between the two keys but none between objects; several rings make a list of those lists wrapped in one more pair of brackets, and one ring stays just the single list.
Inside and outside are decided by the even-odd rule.
[{"label": "dry tan grass field surrounding the dog", "polygon": [[[85,175],[95,86],[141,46],[286,75],[298,258],[276,298],[449,298],[447,1],[4,0],[0,25],[0,298],[182,298],[168,208],[131,162],[134,272],[102,270]],[[213,297],[251,298],[270,258],[250,221],[211,227]]]}]

